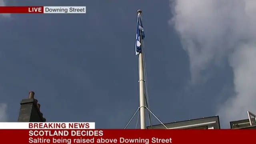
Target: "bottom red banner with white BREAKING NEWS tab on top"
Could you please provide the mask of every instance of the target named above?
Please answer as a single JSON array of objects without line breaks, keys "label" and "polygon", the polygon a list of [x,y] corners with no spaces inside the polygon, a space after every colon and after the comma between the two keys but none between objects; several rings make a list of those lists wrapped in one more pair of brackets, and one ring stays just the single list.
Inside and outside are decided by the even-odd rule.
[{"label": "bottom red banner with white BREAKING NEWS tab on top", "polygon": [[244,144],[256,130],[95,130],[95,123],[0,123],[1,143]]}]

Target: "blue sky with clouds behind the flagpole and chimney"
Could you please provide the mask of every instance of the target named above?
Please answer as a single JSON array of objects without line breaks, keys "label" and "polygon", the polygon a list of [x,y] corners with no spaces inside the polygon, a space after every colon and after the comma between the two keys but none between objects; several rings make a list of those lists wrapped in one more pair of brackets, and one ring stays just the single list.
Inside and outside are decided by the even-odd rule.
[{"label": "blue sky with clouds behind the flagpole and chimney", "polygon": [[[0,2],[7,6],[86,6],[87,12],[0,16],[2,121],[16,122],[20,100],[33,90],[48,122],[96,122],[96,128],[123,128],[138,108],[137,56],[134,55],[138,9],[143,11],[146,33],[152,112],[164,123],[218,114],[224,127],[228,127],[230,120],[246,118],[246,110],[255,108],[250,101],[255,100],[256,92],[252,90],[247,97],[240,96],[246,88],[239,84],[246,82],[248,86],[256,80],[248,80],[248,76],[246,80],[240,78],[241,82],[239,72],[251,70],[249,62],[253,60],[244,61],[241,56],[247,55],[232,48],[238,41],[239,46],[244,43],[256,46],[251,42],[256,37],[246,33],[255,30],[250,29],[254,21],[247,22],[250,26],[242,33],[243,38],[234,38],[240,36],[232,33],[235,26],[240,26],[239,19],[232,17],[232,24],[235,20],[240,22],[233,27],[226,22],[215,26],[211,20],[216,17],[210,10],[216,7],[206,2],[203,6],[196,5],[200,1],[189,4],[184,4],[184,0],[176,0],[176,4],[174,0]],[[234,3],[226,17],[233,16],[237,9],[243,10],[243,3]],[[219,4],[220,9],[229,4]],[[224,18],[218,20],[223,22]],[[226,27],[231,27],[227,35],[222,32]],[[219,35],[228,37],[228,42],[223,42]],[[254,49],[249,48],[249,53],[250,50]],[[248,67],[239,67],[244,64]],[[226,103],[232,103],[233,107]],[[237,109],[241,111],[236,112]],[[158,122],[154,120],[153,124]],[[129,128],[135,125],[136,118]]]}]

